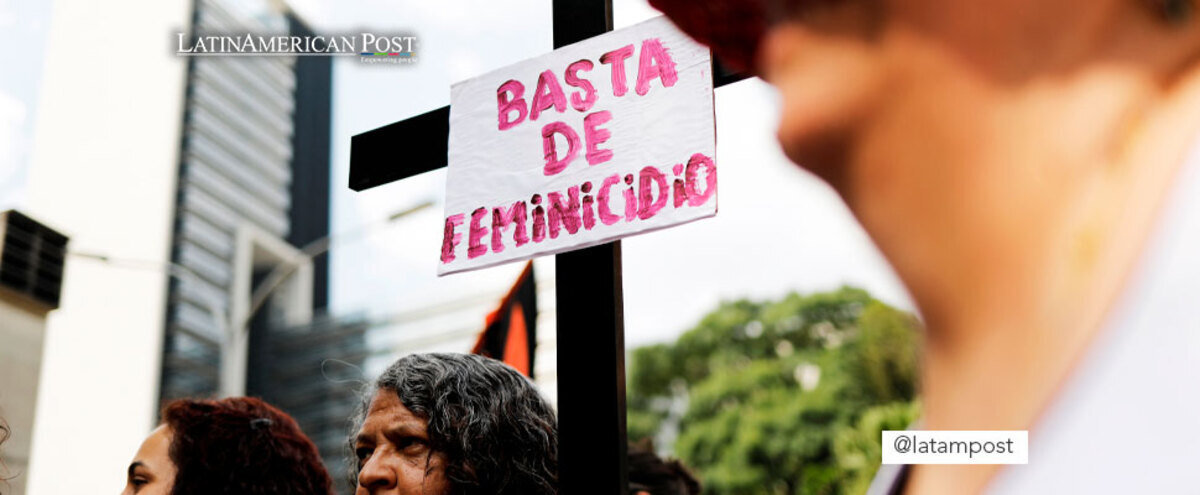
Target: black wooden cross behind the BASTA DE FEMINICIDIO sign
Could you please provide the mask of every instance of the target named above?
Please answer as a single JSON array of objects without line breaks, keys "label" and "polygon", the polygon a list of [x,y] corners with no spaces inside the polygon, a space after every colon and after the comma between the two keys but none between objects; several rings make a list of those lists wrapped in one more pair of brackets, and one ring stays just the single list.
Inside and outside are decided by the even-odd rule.
[{"label": "black wooden cross behind the BASTA DE FEMINICIDIO sign", "polygon": [[[553,0],[554,48],[612,30],[612,0]],[[713,85],[744,79],[714,64]],[[450,107],[354,136],[350,189],[446,166]],[[404,142],[403,160],[395,143]],[[554,257],[558,312],[558,478],[568,495],[624,495],[625,327],[620,241]]]}]

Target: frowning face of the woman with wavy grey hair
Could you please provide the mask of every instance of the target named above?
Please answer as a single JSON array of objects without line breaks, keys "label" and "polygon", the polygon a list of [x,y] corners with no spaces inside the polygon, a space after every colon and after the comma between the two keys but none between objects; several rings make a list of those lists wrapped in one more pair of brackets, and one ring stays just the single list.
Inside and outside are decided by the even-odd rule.
[{"label": "frowning face of the woman with wavy grey hair", "polygon": [[413,415],[392,390],[371,400],[354,441],[358,495],[445,495],[445,457],[430,447],[428,422]]}]

